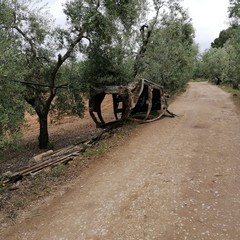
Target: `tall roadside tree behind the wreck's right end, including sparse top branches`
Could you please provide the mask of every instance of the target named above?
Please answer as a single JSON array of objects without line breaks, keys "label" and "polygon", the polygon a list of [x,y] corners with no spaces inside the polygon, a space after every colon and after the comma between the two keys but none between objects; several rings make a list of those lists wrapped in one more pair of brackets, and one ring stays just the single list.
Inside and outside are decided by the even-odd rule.
[{"label": "tall roadside tree behind the wreck's right end, including sparse top branches", "polygon": [[194,30],[179,1],[166,1],[162,12],[159,6],[162,7],[156,5],[157,18],[152,21],[155,27],[151,29],[147,45],[144,40],[149,34],[143,36],[145,50],[140,50],[143,54],[138,61],[138,75],[176,90],[192,76],[197,54]]}]

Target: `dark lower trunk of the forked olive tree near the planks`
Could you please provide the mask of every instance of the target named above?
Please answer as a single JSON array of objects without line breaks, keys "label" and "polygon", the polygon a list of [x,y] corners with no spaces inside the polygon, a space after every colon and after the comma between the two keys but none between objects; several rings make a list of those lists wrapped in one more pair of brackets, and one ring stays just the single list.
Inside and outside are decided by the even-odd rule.
[{"label": "dark lower trunk of the forked olive tree near the planks", "polygon": [[48,114],[39,114],[38,115],[39,124],[40,124],[40,133],[39,133],[39,148],[47,149],[49,148],[49,136],[48,136]]}]

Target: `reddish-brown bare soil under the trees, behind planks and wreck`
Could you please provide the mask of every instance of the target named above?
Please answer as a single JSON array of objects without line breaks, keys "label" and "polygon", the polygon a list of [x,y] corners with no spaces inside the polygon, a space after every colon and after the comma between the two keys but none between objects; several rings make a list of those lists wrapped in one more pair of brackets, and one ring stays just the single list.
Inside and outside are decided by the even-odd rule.
[{"label": "reddish-brown bare soil under the trees, behind planks and wreck", "polygon": [[[86,104],[87,105],[87,104]],[[112,99],[106,96],[103,103],[103,116],[108,121],[114,120],[112,113]],[[29,160],[46,150],[38,148],[39,123],[36,115],[26,114],[26,124],[23,128],[21,142],[12,148],[0,152],[0,175],[7,172],[16,172],[28,166]],[[84,118],[66,116],[62,119],[49,117],[49,138],[53,149],[57,150],[71,144],[77,144],[99,132],[96,125],[85,112]]]}]

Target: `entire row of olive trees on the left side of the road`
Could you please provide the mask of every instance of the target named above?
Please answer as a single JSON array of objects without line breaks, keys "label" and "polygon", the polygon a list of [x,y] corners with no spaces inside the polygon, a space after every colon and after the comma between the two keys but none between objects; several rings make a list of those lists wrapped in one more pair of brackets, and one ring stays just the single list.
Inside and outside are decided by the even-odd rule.
[{"label": "entire row of olive trees on the left side of the road", "polygon": [[68,0],[66,25],[55,26],[35,1],[0,0],[0,91],[6,94],[0,97],[1,137],[20,129],[23,100],[38,116],[39,147],[48,148],[49,112],[83,116],[82,93],[91,87],[141,77],[169,90],[182,87],[197,47],[180,2]]}]

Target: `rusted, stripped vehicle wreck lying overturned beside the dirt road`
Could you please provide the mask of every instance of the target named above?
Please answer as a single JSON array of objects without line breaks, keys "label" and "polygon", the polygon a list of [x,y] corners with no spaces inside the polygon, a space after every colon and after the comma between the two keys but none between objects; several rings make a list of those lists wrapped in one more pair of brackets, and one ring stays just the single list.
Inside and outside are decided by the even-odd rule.
[{"label": "rusted, stripped vehicle wreck lying overturned beside the dirt road", "polygon": [[97,127],[105,127],[101,104],[106,94],[112,95],[113,114],[115,121],[133,120],[138,122],[152,122],[165,114],[174,117],[168,110],[167,98],[162,86],[142,79],[127,86],[105,86],[94,88],[89,98],[89,113]]}]

